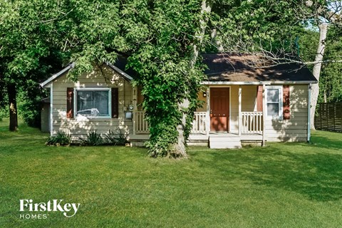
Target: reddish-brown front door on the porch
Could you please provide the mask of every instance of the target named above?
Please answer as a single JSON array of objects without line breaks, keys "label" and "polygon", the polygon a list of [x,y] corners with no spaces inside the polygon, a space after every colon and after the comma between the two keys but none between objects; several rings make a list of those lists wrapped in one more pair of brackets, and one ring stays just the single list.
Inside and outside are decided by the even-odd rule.
[{"label": "reddish-brown front door on the porch", "polygon": [[210,130],[229,130],[229,88],[210,88]]}]

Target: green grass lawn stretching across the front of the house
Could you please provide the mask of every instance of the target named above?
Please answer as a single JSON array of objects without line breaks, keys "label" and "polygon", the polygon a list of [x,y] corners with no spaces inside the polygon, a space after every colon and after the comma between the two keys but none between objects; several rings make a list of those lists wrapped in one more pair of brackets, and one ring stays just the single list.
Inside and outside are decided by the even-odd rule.
[{"label": "green grass lawn stretching across the front of the house", "polygon": [[[0,227],[341,227],[342,134],[242,150],[46,147],[0,122]],[[20,219],[19,199],[81,203],[74,217]],[[24,214],[39,214],[24,212]],[[46,214],[46,212],[41,212]]]}]

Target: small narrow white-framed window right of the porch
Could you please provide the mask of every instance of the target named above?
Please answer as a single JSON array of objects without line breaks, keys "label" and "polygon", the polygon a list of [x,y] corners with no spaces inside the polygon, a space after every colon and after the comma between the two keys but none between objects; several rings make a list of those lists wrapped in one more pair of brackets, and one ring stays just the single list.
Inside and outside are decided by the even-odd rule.
[{"label": "small narrow white-framed window right of the porch", "polygon": [[281,87],[266,88],[267,116],[281,117],[282,113]]}]

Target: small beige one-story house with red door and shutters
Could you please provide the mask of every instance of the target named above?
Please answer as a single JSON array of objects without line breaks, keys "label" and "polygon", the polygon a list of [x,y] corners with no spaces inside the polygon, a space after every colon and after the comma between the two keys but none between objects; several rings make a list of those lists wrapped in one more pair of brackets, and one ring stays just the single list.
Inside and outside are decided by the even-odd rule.
[{"label": "small beige one-story house with red door and shutters", "polygon": [[[190,145],[241,147],[244,142],[310,140],[311,84],[317,83],[299,63],[274,64],[256,55],[203,54],[207,81],[198,99]],[[50,133],[66,131],[74,138],[90,130],[122,129],[134,145],[148,140],[140,88],[124,61],[105,63],[67,78],[71,66],[41,83],[50,88]]]}]

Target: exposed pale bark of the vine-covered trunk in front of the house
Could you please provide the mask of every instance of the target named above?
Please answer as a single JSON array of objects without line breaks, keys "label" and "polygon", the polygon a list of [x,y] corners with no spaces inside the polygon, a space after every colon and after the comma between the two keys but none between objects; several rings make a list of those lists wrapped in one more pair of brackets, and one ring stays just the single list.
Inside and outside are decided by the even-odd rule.
[{"label": "exposed pale bark of the vine-covered trunk in front of the house", "polygon": [[[189,63],[189,68],[194,68],[195,63],[198,58],[199,54],[199,48],[202,45],[202,41],[204,38],[204,33],[205,33],[205,28],[207,27],[207,22],[208,22],[208,17],[207,15],[210,14],[212,11],[212,4],[210,0],[203,0],[202,1],[202,9],[201,9],[201,14],[202,14],[202,19],[199,21],[199,31],[198,33],[195,34],[195,37],[197,38],[197,41],[193,43],[193,48],[192,48],[192,58]],[[185,96],[187,96],[189,91],[185,91]],[[174,152],[176,156],[180,157],[187,157],[187,152],[186,152],[186,140],[185,138],[185,128],[187,125],[187,110],[190,106],[190,100],[185,98],[182,103],[178,104],[178,107],[180,110],[184,110],[182,115],[182,123],[177,126],[177,131],[178,131],[178,140],[177,143],[174,145]]]}]

